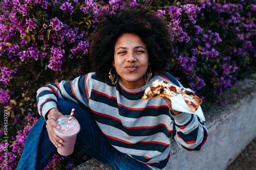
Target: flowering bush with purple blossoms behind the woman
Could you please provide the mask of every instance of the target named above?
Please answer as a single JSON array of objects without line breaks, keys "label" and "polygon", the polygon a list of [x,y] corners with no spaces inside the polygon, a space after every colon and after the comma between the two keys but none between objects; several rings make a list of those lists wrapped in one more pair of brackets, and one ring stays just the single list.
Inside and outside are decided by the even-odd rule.
[{"label": "flowering bush with purple blossoms behind the woman", "polygon": [[[17,165],[26,135],[37,121],[36,90],[90,72],[87,38],[98,17],[140,3],[149,1],[1,2],[0,104],[9,113],[10,137],[9,165],[4,167],[0,157],[2,168]],[[255,65],[255,1],[162,0],[151,6],[172,30],[170,73],[206,100],[221,101],[223,90]],[[69,158],[55,155],[46,168],[63,162],[74,166]]]}]

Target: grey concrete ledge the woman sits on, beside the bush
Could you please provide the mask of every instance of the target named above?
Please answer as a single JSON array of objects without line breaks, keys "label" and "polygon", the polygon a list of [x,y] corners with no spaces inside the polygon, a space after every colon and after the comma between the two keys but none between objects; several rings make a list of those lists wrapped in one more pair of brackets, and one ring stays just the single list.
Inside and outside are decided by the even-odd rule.
[{"label": "grey concrete ledge the woman sits on, beside the bush", "polygon": [[[223,95],[236,97],[237,103],[226,107],[215,103],[202,105],[210,133],[205,149],[188,152],[173,140],[167,169],[225,169],[256,137],[256,74],[224,91]],[[85,162],[75,169],[102,169],[104,166],[95,159],[90,161],[97,167],[87,166]]]}]

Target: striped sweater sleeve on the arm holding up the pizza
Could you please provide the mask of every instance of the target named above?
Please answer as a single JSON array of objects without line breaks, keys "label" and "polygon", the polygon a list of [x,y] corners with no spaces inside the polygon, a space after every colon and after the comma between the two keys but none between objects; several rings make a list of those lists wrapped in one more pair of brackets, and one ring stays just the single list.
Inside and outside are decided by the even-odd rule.
[{"label": "striped sweater sleeve on the arm holding up the pizza", "polygon": [[[179,84],[183,87],[180,82]],[[197,115],[182,112],[180,115],[174,116],[171,114],[171,110],[169,111],[174,118],[174,127],[176,129],[174,132],[176,134],[173,135],[179,147],[183,147],[187,151],[199,152],[203,150],[209,135],[205,123],[201,122]]]}]

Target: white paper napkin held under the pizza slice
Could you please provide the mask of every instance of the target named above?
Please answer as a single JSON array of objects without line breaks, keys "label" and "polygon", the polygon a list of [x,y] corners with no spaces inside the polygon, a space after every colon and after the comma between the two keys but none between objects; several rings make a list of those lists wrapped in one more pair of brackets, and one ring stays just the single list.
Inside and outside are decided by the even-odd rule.
[{"label": "white paper napkin held under the pizza slice", "polygon": [[191,111],[190,108],[188,108],[188,106],[181,94],[178,94],[177,96],[174,96],[174,97],[168,97],[168,98],[172,102],[173,110],[197,115],[200,118],[201,122],[205,121],[204,113],[203,113],[201,107],[199,106],[195,112]]}]

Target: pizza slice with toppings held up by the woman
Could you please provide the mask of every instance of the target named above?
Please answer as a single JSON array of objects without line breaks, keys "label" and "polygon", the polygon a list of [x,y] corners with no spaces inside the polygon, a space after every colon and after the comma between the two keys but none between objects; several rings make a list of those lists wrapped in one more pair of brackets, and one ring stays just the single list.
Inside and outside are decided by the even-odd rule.
[{"label": "pizza slice with toppings held up by the woman", "polygon": [[174,97],[181,94],[191,111],[196,111],[200,104],[203,102],[200,97],[194,94],[190,88],[179,87],[174,84],[168,83],[159,79],[154,81],[152,85],[146,88],[143,100],[156,98],[156,97]]}]

